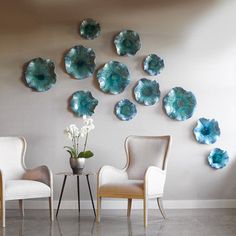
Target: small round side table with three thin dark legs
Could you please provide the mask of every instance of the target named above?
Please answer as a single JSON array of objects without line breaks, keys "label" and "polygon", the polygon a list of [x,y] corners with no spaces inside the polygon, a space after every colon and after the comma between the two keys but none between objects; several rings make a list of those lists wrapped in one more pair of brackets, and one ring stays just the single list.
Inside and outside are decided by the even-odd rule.
[{"label": "small round side table with three thin dark legs", "polygon": [[64,188],[65,188],[65,184],[66,184],[66,179],[67,179],[68,176],[69,177],[77,177],[78,210],[79,210],[79,214],[80,214],[80,184],[79,184],[79,177],[80,176],[85,176],[86,180],[87,180],[87,184],[88,184],[91,203],[92,203],[92,206],[93,206],[93,213],[94,213],[94,216],[96,218],[96,211],[95,211],[94,202],[93,202],[93,195],[92,195],[92,191],[91,191],[91,187],[90,187],[90,183],[89,183],[89,176],[90,175],[96,175],[96,174],[93,173],[93,172],[83,172],[83,173],[79,173],[79,174],[73,174],[71,172],[60,172],[60,173],[57,173],[56,175],[63,175],[64,176],[63,184],[62,184],[62,188],[61,188],[61,194],[60,194],[60,198],[59,198],[59,202],[58,202],[58,206],[57,206],[56,217],[57,217],[57,215],[59,213],[59,210],[60,210],[61,199],[62,199],[62,196],[63,196],[63,192],[64,192]]}]

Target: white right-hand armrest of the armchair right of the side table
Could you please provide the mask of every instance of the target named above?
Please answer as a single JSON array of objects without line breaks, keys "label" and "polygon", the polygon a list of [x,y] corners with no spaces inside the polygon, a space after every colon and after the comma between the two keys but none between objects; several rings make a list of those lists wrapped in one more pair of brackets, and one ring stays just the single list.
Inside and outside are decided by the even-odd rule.
[{"label": "white right-hand armrest of the armchair right of the side table", "polygon": [[149,166],[145,172],[145,192],[148,196],[162,196],[166,180],[166,171],[156,167]]}]

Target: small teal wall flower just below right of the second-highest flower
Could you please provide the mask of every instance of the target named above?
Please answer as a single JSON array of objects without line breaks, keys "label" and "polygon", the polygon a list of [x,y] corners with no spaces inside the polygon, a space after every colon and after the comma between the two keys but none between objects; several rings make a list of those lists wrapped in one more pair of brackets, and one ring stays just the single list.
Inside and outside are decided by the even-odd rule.
[{"label": "small teal wall flower just below right of the second-highest flower", "polygon": [[143,61],[143,69],[149,75],[158,75],[164,68],[164,61],[156,54],[148,55]]}]

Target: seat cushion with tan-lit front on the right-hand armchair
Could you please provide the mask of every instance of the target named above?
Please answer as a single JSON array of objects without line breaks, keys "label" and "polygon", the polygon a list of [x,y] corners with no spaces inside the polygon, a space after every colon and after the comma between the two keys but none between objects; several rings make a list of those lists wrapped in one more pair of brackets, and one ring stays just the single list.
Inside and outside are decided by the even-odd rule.
[{"label": "seat cushion with tan-lit front on the right-hand armchair", "polygon": [[107,197],[142,197],[144,195],[143,180],[125,180],[100,186],[99,194]]}]

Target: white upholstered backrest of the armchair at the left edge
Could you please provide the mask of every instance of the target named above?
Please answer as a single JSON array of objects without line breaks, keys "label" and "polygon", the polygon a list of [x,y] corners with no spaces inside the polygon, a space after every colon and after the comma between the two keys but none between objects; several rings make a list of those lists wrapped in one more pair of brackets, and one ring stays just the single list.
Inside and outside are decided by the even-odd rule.
[{"label": "white upholstered backrest of the armchair at the left edge", "polygon": [[26,142],[19,137],[0,137],[0,170],[5,180],[21,179],[25,173]]}]

